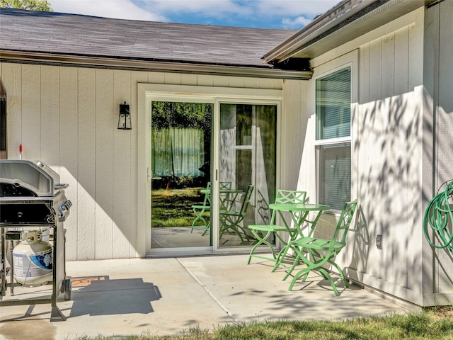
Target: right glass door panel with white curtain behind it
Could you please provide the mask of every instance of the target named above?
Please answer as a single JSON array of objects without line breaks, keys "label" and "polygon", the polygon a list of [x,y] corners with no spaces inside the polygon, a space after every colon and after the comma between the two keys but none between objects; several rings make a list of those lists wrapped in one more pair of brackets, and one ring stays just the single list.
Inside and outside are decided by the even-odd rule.
[{"label": "right glass door panel with white curtain behind it", "polygon": [[277,105],[220,104],[219,246],[251,246],[247,226],[269,222],[276,145]]}]

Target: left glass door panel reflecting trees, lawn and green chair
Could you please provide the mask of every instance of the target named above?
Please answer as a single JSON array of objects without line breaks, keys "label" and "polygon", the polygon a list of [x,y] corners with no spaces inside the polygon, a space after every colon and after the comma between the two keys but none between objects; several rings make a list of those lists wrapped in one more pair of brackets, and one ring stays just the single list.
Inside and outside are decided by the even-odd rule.
[{"label": "left glass door panel reflecting trees, lawn and green chair", "polygon": [[212,246],[212,103],[151,103],[151,249]]}]

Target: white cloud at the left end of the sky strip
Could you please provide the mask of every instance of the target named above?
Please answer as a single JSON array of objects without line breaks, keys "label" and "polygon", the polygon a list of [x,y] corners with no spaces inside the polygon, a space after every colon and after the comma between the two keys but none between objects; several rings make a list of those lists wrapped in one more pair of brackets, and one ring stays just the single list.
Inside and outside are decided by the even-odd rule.
[{"label": "white cloud at the left end of the sky strip", "polygon": [[50,0],[50,6],[55,12],[62,13],[144,21],[168,21],[165,16],[145,11],[131,0]]}]

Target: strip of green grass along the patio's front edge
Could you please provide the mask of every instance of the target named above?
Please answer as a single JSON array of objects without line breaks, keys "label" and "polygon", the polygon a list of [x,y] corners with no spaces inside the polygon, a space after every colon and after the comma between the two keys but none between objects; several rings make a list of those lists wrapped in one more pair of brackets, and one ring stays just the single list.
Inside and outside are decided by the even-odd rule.
[{"label": "strip of green grass along the patio's front edge", "polygon": [[[80,337],[77,340],[106,340],[105,336]],[[118,338],[115,338],[118,339]],[[360,317],[342,322],[277,321],[231,324],[217,329],[188,329],[177,336],[128,336],[127,340],[394,340],[453,339],[453,314],[436,311],[413,314],[389,314]]]}]

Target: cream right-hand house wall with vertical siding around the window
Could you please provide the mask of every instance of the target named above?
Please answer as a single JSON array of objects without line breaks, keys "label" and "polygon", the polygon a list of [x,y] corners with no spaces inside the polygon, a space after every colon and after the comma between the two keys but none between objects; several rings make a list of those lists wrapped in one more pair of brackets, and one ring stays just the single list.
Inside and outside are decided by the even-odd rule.
[{"label": "cream right-hand house wall with vertical siding around the window", "polygon": [[[445,1],[445,11],[436,11],[451,18],[451,7],[452,2]],[[425,69],[425,14],[425,8],[420,8],[311,60],[314,77],[308,92],[301,93],[309,98],[306,113],[302,113],[309,117],[309,132],[302,155],[308,159],[301,162],[299,186],[316,192],[314,82],[350,65],[352,199],[359,199],[359,208],[347,249],[338,261],[350,278],[364,285],[416,305],[445,305],[453,302],[452,259],[445,251],[435,251],[433,256],[423,235],[423,214],[432,189],[437,190],[432,188],[430,176],[434,174],[439,184],[453,178],[452,167],[447,166],[453,164],[452,98],[448,96],[453,77],[447,62],[452,55],[447,42],[452,23],[441,20],[437,25],[445,32],[440,35],[444,42],[437,46],[440,65]],[[431,34],[431,38],[437,37],[435,32]],[[445,71],[433,80],[439,86],[432,94],[439,102],[437,154],[427,158],[431,152],[425,141],[432,140],[432,128],[427,128],[426,120],[432,121],[436,99],[430,98],[431,107],[425,103],[423,70],[430,74],[435,67]],[[445,126],[437,126],[440,122]],[[320,232],[328,233],[329,228],[331,232],[335,220],[336,216],[324,214]],[[382,235],[382,249],[376,246],[378,234]]]}]

